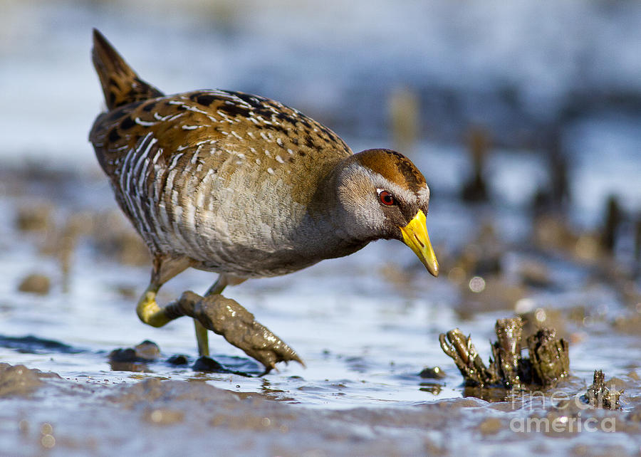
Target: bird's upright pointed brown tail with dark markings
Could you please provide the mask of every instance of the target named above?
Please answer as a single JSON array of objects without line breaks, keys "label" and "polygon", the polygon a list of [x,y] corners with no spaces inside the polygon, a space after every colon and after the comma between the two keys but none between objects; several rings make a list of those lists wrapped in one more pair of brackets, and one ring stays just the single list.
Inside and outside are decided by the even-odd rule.
[{"label": "bird's upright pointed brown tail with dark markings", "polygon": [[154,86],[138,78],[135,71],[127,65],[125,59],[120,57],[107,38],[95,28],[91,55],[109,110],[127,103],[164,95]]}]

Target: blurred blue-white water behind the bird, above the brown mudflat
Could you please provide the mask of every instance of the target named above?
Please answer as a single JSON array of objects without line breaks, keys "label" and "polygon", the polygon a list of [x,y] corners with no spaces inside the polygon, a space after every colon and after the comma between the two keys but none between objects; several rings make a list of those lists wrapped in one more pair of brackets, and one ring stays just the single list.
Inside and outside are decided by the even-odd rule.
[{"label": "blurred blue-white water behind the bird, above the brown mudflat", "polygon": [[[87,142],[103,106],[90,64],[97,27],[165,93],[258,93],[354,150],[400,149],[424,165],[435,199],[474,174],[476,148],[488,199],[566,194],[588,226],[610,195],[641,209],[634,1],[2,0],[1,9],[0,164],[97,168]],[[567,189],[550,173],[559,167]]]}]

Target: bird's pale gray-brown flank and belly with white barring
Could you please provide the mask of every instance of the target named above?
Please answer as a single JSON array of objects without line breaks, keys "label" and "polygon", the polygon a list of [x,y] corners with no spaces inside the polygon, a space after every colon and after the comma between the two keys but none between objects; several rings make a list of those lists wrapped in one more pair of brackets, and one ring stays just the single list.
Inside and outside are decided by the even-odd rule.
[{"label": "bird's pale gray-brown flank and belly with white barring", "polygon": [[205,144],[173,154],[147,135],[123,160],[120,203],[154,253],[245,276],[280,275],[315,263],[297,234],[306,208],[293,201],[283,168],[262,169],[241,152]]}]

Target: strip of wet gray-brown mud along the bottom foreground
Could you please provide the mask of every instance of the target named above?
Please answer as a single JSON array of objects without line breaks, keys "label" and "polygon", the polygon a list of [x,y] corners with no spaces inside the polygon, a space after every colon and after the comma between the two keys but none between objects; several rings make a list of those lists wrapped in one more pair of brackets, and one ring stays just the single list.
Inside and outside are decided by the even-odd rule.
[{"label": "strip of wet gray-brown mud along the bottom foreground", "polygon": [[[7,367],[7,372],[24,367]],[[621,382],[621,381],[620,381]],[[624,382],[625,384],[625,382]],[[19,455],[158,456],[206,451],[252,456],[449,455],[469,440],[572,455],[632,452],[641,434],[638,409],[590,409],[573,399],[515,398],[499,404],[450,399],[405,407],[309,409],[269,396],[230,392],[206,382],[145,377],[134,384],[83,384],[43,377],[26,398],[4,396],[0,449]],[[21,398],[21,400],[18,400]],[[546,420],[550,429],[546,431]],[[588,432],[577,431],[578,419]],[[534,420],[536,419],[536,420]],[[533,429],[538,424],[543,429]],[[573,424],[573,428],[570,427]],[[624,433],[621,433],[624,432]],[[618,438],[585,449],[582,434]],[[541,436],[564,436],[542,441]]]}]

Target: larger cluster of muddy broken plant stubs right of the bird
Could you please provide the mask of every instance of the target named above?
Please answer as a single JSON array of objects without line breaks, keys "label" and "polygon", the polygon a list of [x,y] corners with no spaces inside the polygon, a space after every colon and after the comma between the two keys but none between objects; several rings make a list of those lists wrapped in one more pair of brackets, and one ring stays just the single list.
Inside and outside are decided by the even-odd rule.
[{"label": "larger cluster of muddy broken plant stubs right of the bird", "polygon": [[555,330],[543,328],[527,338],[529,358],[521,357],[521,317],[499,319],[494,330],[497,341],[491,345],[492,357],[487,367],[471,338],[461,330],[439,335],[442,350],[452,357],[468,387],[551,387],[568,375],[569,345],[556,337]]}]

